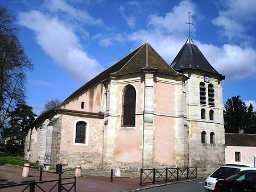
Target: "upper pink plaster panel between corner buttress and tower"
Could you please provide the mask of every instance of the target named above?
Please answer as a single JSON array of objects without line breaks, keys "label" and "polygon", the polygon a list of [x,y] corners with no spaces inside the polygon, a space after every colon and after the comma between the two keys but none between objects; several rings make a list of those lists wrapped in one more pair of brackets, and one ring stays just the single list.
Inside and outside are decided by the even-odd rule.
[{"label": "upper pink plaster panel between corner buttress and tower", "polygon": [[155,112],[174,115],[175,86],[163,82],[155,83]]}]

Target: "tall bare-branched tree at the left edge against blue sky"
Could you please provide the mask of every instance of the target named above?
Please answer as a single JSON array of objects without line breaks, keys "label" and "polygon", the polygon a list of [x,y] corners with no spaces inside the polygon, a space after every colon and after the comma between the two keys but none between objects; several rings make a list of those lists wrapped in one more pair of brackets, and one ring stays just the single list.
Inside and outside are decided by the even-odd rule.
[{"label": "tall bare-branched tree at the left edge against blue sky", "polygon": [[32,70],[24,48],[20,45],[16,18],[6,7],[0,7],[0,130],[7,114],[26,99],[26,70]]}]

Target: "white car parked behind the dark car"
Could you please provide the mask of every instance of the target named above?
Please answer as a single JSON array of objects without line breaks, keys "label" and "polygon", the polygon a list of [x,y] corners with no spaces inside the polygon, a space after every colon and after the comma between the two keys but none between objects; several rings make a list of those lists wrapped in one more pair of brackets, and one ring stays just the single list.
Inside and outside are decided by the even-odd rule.
[{"label": "white car parked behind the dark car", "polygon": [[226,164],[216,169],[204,183],[204,189],[207,192],[213,192],[217,179],[224,180],[234,173],[241,172],[242,170],[256,170],[256,168],[250,168],[246,165]]}]

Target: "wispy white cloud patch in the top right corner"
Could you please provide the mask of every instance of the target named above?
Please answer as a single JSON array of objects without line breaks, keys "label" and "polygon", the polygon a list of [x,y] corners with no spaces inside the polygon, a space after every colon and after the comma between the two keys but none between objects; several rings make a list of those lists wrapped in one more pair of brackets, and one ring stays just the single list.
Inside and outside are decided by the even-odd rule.
[{"label": "wispy white cloud patch in the top right corner", "polygon": [[221,27],[220,35],[229,40],[241,41],[242,45],[250,45],[254,38],[247,35],[250,29],[249,22],[255,22],[255,0],[229,0],[224,2],[224,9],[218,12],[213,24]]}]

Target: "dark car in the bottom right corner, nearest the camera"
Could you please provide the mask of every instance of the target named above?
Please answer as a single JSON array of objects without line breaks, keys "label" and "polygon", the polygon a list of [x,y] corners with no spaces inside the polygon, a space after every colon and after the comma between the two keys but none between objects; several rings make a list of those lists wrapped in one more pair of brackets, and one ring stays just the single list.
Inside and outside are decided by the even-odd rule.
[{"label": "dark car in the bottom right corner, nearest the camera", "polygon": [[225,180],[218,180],[214,192],[256,192],[256,170],[244,170]]}]

